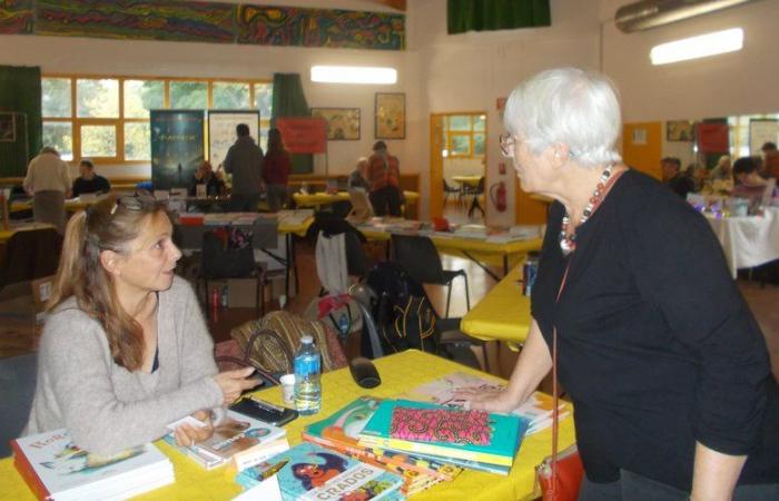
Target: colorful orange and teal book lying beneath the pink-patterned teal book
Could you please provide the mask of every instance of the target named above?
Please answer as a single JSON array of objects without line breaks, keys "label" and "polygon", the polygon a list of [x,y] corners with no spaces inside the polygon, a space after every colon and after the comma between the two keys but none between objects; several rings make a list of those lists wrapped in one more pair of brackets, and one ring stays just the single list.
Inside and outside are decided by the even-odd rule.
[{"label": "colorful orange and teal book lying beneath the pink-patterned teal book", "polygon": [[363,431],[381,402],[382,399],[374,396],[361,396],[329,418],[306,426],[303,431],[303,439],[335,449],[361,461],[403,473],[404,477],[411,477],[408,471],[413,471],[450,481],[462,472],[461,468],[450,463],[421,459],[404,452],[359,445],[359,432]]}]

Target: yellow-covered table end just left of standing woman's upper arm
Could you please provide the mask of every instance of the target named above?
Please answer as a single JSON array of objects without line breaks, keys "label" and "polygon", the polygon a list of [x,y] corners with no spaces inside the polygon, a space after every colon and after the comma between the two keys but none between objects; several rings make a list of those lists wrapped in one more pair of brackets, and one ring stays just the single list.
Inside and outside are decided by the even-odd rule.
[{"label": "yellow-covered table end just left of standing woman's upper arm", "polygon": [[516,266],[463,316],[460,328],[480,340],[524,343],[532,318],[520,278],[522,266]]}]

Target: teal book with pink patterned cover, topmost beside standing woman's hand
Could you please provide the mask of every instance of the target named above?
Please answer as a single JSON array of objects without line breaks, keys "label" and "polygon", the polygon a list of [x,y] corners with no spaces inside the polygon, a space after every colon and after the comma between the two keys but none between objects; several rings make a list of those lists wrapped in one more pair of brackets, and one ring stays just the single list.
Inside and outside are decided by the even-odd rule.
[{"label": "teal book with pink patterned cover, topmost beside standing woman's hand", "polygon": [[[485,413],[485,416],[472,416],[463,412],[426,402],[385,400],[378,404],[359,433],[359,443],[511,466],[529,421],[513,414]],[[398,413],[407,420],[398,421]],[[421,438],[418,430],[425,431],[428,436]]]}]

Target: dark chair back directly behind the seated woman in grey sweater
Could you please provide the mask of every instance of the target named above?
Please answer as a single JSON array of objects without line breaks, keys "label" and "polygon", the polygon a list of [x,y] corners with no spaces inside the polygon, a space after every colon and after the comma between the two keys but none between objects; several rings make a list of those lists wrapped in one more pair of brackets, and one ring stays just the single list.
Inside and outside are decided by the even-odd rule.
[{"label": "dark chair back directly behind the seated woman in grey sweater", "polygon": [[0,358],[0,458],[11,455],[9,442],[18,439],[27,425],[37,377],[37,353]]}]

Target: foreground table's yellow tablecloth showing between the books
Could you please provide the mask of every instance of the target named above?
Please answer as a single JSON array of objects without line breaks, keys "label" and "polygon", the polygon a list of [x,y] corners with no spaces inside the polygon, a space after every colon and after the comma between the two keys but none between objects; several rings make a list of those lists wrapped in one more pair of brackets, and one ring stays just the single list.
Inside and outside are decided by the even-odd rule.
[{"label": "foreground table's yellow tablecloth showing between the books", "polygon": [[[375,361],[382,376],[382,384],[372,390],[357,386],[348,369],[341,369],[323,375],[323,410],[313,416],[302,416],[285,428],[290,444],[300,442],[303,428],[312,422],[322,420],[343,407],[362,394],[375,396],[393,396],[406,392],[422,383],[436,380],[451,372],[477,371],[458,365],[445,358],[440,358],[417,351],[407,351],[396,355],[385,356]],[[280,389],[274,386],[259,392],[263,399],[282,403]],[[571,445],[575,440],[573,420],[560,422],[560,450]],[[534,468],[543,458],[551,453],[552,431],[546,429],[524,440],[520,452],[507,477],[465,470],[456,480],[440,483],[411,498],[414,501],[425,500],[530,500],[533,498]],[[226,477],[224,469],[205,471],[193,460],[186,458],[170,445],[157,441],[156,444],[174,463],[176,483],[151,491],[139,500],[228,500],[240,492],[240,488]],[[0,499],[32,500],[32,492],[13,468],[12,459],[0,460]]]}]

